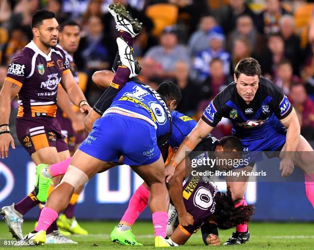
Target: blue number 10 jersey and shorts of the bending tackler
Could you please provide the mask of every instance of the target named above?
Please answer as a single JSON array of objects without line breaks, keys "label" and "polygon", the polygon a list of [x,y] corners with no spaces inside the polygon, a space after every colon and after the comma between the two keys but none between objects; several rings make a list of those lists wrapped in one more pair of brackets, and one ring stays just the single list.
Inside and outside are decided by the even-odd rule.
[{"label": "blue number 10 jersey and shorts of the bending tackler", "polygon": [[123,156],[124,164],[146,165],[160,158],[156,138],[170,131],[171,115],[159,94],[130,81],[94,122],[79,149],[106,162]]}]

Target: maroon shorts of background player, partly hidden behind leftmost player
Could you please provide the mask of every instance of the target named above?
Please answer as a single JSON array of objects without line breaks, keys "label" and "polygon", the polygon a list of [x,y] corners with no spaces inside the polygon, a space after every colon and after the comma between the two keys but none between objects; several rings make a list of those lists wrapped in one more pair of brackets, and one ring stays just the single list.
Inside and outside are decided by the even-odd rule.
[{"label": "maroon shorts of background player, partly hidden behind leftmost player", "polygon": [[85,133],[78,134],[72,128],[72,122],[69,118],[65,118],[62,114],[62,111],[59,109],[56,113],[56,118],[61,126],[61,133],[65,136],[68,148],[70,151],[75,150],[76,144],[81,144],[87,135]]}]

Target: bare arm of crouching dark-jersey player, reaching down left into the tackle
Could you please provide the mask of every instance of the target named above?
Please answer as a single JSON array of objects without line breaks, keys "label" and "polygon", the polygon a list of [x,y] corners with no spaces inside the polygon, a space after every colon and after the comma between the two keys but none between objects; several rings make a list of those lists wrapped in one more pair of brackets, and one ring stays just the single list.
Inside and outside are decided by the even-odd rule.
[{"label": "bare arm of crouching dark-jersey player, reaching down left into the tackle", "polygon": [[174,174],[174,169],[178,164],[204,139],[214,128],[208,125],[202,118],[191,133],[183,140],[178,151],[174,154],[171,161],[166,165],[166,182]]}]

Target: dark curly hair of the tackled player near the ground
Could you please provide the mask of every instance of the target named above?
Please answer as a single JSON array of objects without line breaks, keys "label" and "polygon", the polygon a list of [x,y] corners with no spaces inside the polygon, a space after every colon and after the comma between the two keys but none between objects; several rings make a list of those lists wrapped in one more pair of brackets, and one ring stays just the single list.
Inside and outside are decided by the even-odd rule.
[{"label": "dark curly hair of the tackled player near the ground", "polygon": [[244,224],[254,214],[253,205],[234,207],[234,201],[229,189],[226,194],[217,193],[215,201],[215,212],[211,219],[217,223],[220,229],[227,230],[239,224]]}]

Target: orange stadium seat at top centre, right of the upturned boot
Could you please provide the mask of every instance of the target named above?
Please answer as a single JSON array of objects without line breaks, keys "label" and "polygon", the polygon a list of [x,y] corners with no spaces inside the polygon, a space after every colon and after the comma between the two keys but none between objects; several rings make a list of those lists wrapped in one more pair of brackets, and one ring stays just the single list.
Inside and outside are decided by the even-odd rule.
[{"label": "orange stadium seat at top centre, right of the upturned boot", "polygon": [[155,4],[148,6],[146,15],[154,23],[152,34],[158,37],[168,25],[174,25],[178,19],[178,7],[173,4]]}]

